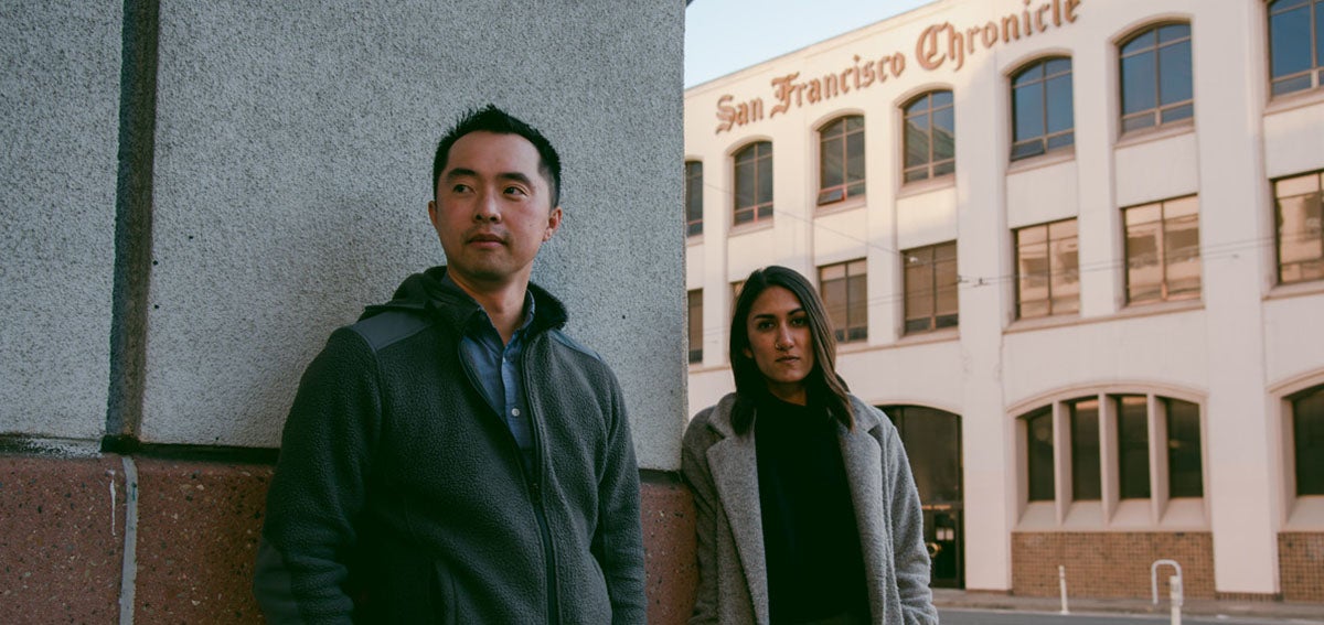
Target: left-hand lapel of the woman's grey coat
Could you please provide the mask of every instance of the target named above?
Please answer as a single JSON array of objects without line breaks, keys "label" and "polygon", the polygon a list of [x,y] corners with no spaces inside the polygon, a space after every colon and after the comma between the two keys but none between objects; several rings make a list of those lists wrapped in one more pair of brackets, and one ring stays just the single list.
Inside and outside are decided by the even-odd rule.
[{"label": "left-hand lapel of the woman's grey coat", "polygon": [[744,568],[755,620],[768,622],[768,571],[753,436],[736,436],[730,422],[722,425],[726,428],[719,426],[719,430],[724,429],[726,438],[708,448],[708,465]]}]

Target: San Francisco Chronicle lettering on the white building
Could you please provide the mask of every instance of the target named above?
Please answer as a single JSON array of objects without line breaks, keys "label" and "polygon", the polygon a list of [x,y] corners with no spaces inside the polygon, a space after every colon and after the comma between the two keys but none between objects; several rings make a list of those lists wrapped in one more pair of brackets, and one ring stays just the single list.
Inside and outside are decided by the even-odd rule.
[{"label": "San Francisco Chronicle lettering on the white building", "polygon": [[[947,64],[959,72],[965,66],[965,58],[976,50],[992,49],[1000,44],[1033,37],[1034,33],[1062,28],[1076,21],[1076,9],[1084,0],[1049,0],[1033,5],[1034,0],[1022,0],[1023,7],[1017,13],[990,20],[981,25],[956,28],[951,23],[933,24],[925,28],[915,40],[915,62],[925,72],[933,72]],[[850,93],[851,89],[869,89],[882,85],[888,78],[899,78],[906,72],[908,58],[902,52],[894,52],[878,58],[854,56],[854,62],[842,69],[816,78],[801,78],[800,72],[779,75],[772,79],[773,105],[768,118],[789,111],[792,107],[813,106]],[[718,131],[751,124],[764,119],[763,98],[735,102],[731,94],[718,98]]]}]

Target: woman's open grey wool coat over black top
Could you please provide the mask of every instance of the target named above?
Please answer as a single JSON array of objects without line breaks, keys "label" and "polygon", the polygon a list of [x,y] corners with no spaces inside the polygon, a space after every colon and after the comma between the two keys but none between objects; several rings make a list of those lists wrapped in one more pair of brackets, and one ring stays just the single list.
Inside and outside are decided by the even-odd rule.
[{"label": "woman's open grey wool coat over black top", "polygon": [[[884,625],[937,624],[928,588],[924,515],[906,449],[891,421],[851,396],[855,429],[838,426],[869,608]],[[698,512],[699,589],[691,624],[767,624],[768,575],[753,432],[731,426],[735,395],[690,421],[681,463]],[[757,416],[755,417],[757,421]]]}]

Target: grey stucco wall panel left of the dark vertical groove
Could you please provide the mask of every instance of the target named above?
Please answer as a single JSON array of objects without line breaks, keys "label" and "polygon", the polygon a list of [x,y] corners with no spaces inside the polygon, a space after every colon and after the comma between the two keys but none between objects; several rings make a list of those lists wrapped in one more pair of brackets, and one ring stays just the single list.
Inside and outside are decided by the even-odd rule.
[{"label": "grey stucco wall panel left of the dark vertical groove", "polygon": [[0,7],[0,434],[106,424],[119,3]]}]

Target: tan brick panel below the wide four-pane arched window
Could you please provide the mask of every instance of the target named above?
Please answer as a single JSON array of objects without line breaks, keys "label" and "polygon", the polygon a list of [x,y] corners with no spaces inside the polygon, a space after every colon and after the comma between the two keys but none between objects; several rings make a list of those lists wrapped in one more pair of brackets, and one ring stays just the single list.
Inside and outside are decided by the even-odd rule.
[{"label": "tan brick panel below the wide four-pane arched window", "polygon": [[[1012,592],[1058,596],[1061,564],[1072,596],[1147,599],[1149,565],[1170,559],[1181,564],[1186,597],[1214,599],[1213,553],[1209,532],[1013,532]],[[1160,596],[1168,596],[1169,575],[1160,571]]]}]

